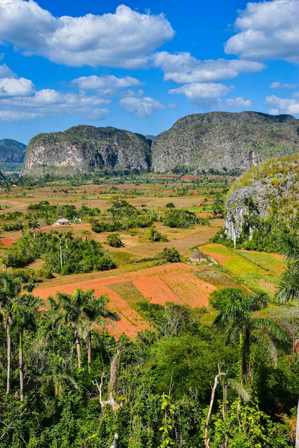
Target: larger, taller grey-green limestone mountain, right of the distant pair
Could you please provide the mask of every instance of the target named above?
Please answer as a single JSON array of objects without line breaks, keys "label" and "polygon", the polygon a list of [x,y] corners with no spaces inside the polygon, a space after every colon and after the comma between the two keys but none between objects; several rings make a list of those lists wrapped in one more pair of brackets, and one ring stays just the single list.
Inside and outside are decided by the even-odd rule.
[{"label": "larger, taller grey-green limestone mountain, right of the distant pair", "polygon": [[152,142],[152,170],[246,171],[270,157],[299,151],[299,120],[259,112],[208,112],[180,118]]}]

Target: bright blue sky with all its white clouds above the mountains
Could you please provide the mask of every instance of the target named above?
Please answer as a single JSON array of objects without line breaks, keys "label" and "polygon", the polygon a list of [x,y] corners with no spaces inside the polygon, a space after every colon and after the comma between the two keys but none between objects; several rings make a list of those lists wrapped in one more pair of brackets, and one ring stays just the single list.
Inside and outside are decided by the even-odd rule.
[{"label": "bright blue sky with all its white clouds above the mountains", "polygon": [[0,0],[0,138],[158,134],[209,111],[299,116],[298,0]]}]

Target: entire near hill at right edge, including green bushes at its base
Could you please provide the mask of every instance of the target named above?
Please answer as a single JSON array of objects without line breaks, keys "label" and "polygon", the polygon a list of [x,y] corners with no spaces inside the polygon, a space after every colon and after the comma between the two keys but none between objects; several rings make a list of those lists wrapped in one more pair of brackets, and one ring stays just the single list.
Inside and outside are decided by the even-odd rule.
[{"label": "entire near hill at right edge, including green bushes at its base", "polygon": [[214,242],[275,252],[278,233],[299,228],[299,154],[266,160],[234,184]]}]

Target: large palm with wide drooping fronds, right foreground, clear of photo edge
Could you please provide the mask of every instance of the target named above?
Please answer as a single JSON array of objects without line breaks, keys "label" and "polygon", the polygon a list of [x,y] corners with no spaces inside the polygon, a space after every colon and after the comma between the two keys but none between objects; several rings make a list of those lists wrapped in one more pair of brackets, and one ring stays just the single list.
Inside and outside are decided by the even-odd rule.
[{"label": "large palm with wide drooping fronds, right foreground, clear of photo edge", "polygon": [[256,311],[269,306],[269,297],[265,293],[250,294],[231,293],[228,304],[221,310],[212,322],[213,327],[226,328],[225,344],[239,340],[240,344],[240,379],[241,384],[247,382],[247,376],[252,386],[252,370],[250,365],[251,340],[255,338],[258,344],[264,346],[270,358],[276,362],[276,350],[269,333],[279,340],[287,340],[285,333],[276,323],[264,317],[256,317]]}]

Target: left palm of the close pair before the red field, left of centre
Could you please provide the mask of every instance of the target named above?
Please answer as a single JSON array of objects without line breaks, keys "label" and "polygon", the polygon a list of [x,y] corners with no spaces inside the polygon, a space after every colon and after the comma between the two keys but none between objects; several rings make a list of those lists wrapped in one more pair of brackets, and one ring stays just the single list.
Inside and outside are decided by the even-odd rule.
[{"label": "left palm of the close pair before the red field, left of centre", "polygon": [[65,310],[64,322],[74,327],[74,336],[77,345],[78,368],[81,369],[81,339],[80,328],[82,327],[82,307],[85,305],[85,293],[81,288],[74,290],[74,295],[56,293],[58,304]]}]

